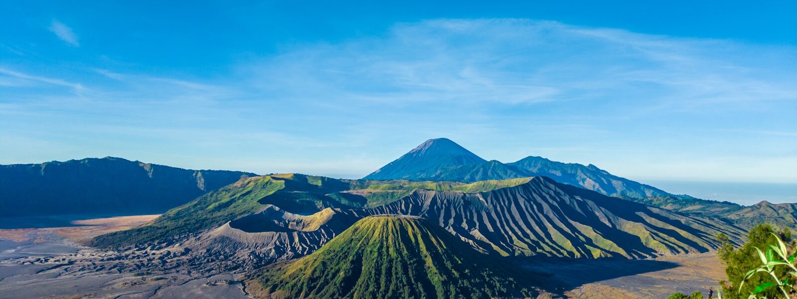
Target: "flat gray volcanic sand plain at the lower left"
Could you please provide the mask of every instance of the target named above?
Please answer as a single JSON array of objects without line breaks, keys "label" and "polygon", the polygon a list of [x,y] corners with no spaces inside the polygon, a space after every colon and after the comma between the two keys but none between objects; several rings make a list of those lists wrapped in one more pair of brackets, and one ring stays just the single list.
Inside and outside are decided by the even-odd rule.
[{"label": "flat gray volcanic sand plain at the lower left", "polygon": [[[247,298],[243,285],[224,282],[234,281],[234,274],[202,277],[179,270],[150,271],[156,268],[138,266],[151,261],[146,258],[151,254],[147,250],[143,250],[143,254],[136,252],[138,256],[129,262],[119,261],[130,264],[132,271],[115,272],[101,266],[102,262],[108,257],[124,255],[124,252],[95,250],[76,244],[96,234],[140,225],[155,216],[82,217],[80,221],[69,222],[59,217],[43,218],[41,223],[31,218],[21,222],[4,219],[6,227],[14,229],[0,230],[0,299]],[[18,225],[12,226],[14,223]],[[45,227],[54,223],[57,223],[55,227]]]}]

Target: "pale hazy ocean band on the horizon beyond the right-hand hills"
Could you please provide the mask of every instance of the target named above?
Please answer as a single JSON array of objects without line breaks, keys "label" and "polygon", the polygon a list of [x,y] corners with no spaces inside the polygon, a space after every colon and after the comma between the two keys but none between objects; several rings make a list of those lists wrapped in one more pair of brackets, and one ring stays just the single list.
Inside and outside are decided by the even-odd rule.
[{"label": "pale hazy ocean band on the horizon beyond the right-hand hills", "polygon": [[770,203],[797,203],[797,183],[752,183],[685,180],[645,180],[673,194],[698,199],[728,201],[750,206],[766,200]]}]

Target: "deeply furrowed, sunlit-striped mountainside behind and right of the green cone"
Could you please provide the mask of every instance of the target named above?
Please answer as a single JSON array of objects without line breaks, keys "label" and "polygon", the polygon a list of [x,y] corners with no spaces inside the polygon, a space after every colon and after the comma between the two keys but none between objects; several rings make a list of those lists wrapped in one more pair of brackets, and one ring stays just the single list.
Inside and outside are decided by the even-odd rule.
[{"label": "deeply furrowed, sunlit-striped mountainside behind and right of the green cone", "polygon": [[545,177],[495,191],[415,191],[366,214],[410,214],[437,222],[485,252],[569,258],[648,258],[706,252],[728,223],[600,195]]}]

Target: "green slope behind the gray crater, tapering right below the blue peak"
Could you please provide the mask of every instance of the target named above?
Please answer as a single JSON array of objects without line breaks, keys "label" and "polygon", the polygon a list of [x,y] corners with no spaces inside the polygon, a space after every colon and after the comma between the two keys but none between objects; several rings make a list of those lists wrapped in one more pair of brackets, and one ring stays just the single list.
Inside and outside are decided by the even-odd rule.
[{"label": "green slope behind the gray crater, tapering right below the blue peak", "polygon": [[197,233],[257,213],[269,205],[291,213],[313,214],[324,208],[357,209],[379,206],[406,197],[418,189],[489,191],[516,186],[528,180],[529,178],[466,184],[331,179],[299,174],[249,177],[168,210],[145,226],[100,235],[93,238],[90,244],[99,247],[124,246]]}]

